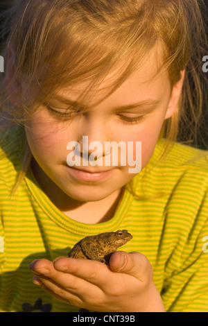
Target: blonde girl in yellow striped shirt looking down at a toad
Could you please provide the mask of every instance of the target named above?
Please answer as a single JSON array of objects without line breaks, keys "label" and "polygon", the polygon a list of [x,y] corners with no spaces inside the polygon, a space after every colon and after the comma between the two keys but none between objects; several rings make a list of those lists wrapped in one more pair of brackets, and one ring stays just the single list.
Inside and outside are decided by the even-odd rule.
[{"label": "blonde girl in yellow striped shirt looking down at a toad", "polygon": [[[202,126],[199,6],[15,1],[1,74],[1,311],[208,311],[208,152],[177,141],[196,144]],[[123,229],[133,239],[110,266],[53,262]]]}]

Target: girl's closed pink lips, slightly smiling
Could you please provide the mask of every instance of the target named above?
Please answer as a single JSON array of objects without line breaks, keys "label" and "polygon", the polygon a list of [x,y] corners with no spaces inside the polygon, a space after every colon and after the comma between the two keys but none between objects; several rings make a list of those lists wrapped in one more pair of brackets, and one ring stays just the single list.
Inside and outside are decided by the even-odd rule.
[{"label": "girl's closed pink lips, slightly smiling", "polygon": [[109,177],[113,170],[108,170],[104,172],[99,172],[99,173],[89,173],[86,171],[74,169],[71,166],[67,166],[69,169],[69,173],[76,179],[82,180],[82,181],[101,181],[107,177]]}]

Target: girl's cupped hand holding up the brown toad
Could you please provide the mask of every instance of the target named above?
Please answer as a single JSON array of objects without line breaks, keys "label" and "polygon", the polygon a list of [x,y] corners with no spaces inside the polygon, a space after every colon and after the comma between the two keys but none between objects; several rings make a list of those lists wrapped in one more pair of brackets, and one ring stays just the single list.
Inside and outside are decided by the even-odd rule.
[{"label": "girl's cupped hand holding up the brown toad", "polygon": [[35,260],[33,282],[55,298],[93,311],[165,311],[153,282],[153,268],[139,252],[117,251],[110,266],[99,261]]}]

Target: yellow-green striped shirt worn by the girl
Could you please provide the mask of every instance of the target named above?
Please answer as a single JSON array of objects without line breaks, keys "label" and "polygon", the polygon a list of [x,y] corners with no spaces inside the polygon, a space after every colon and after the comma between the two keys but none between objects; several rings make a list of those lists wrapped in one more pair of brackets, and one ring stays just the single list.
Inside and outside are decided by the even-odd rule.
[{"label": "yellow-green striped shirt worn by the girl", "polygon": [[[127,187],[113,218],[92,225],[60,212],[31,168],[9,197],[24,140],[24,129],[15,128],[0,149],[0,311],[80,311],[33,284],[28,265],[66,255],[87,235],[119,229],[133,236],[121,250],[142,252],[150,260],[166,311],[208,311],[208,151],[175,143],[154,167],[164,148],[161,139],[133,179],[134,194]],[[139,198],[143,191],[149,199]]]}]

